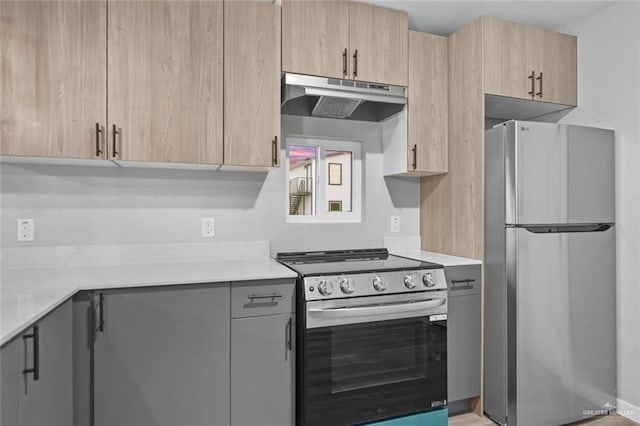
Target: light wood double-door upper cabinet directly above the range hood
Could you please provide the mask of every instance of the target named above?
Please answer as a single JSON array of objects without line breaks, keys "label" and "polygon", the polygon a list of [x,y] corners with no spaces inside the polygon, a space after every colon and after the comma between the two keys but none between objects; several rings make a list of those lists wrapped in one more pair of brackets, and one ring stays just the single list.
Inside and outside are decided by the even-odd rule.
[{"label": "light wood double-door upper cabinet directly above the range hood", "polygon": [[407,34],[404,12],[358,2],[286,0],[282,69],[407,86]]}]

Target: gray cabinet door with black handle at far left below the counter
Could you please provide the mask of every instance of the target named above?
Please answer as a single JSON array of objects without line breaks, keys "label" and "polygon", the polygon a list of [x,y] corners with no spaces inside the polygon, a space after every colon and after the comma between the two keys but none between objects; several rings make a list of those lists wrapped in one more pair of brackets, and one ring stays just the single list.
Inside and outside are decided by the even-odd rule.
[{"label": "gray cabinet door with black handle at far left below the counter", "polygon": [[[18,425],[73,424],[72,322],[67,301],[18,338]],[[35,373],[23,373],[32,368],[38,380]]]}]

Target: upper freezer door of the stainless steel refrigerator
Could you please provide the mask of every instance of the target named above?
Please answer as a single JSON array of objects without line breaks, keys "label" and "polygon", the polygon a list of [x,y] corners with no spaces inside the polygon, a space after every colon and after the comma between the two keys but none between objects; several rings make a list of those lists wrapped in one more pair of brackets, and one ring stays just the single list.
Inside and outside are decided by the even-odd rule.
[{"label": "upper freezer door of the stainless steel refrigerator", "polygon": [[611,130],[514,121],[505,129],[506,223],[613,223]]}]

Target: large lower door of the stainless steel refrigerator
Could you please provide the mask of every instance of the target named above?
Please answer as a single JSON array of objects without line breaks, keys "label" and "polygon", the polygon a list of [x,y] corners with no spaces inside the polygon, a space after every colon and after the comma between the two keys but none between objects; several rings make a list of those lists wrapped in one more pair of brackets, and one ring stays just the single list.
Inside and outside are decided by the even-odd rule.
[{"label": "large lower door of the stainless steel refrigerator", "polygon": [[515,250],[517,324],[509,424],[565,424],[615,404],[615,229],[506,232],[507,251]]}]

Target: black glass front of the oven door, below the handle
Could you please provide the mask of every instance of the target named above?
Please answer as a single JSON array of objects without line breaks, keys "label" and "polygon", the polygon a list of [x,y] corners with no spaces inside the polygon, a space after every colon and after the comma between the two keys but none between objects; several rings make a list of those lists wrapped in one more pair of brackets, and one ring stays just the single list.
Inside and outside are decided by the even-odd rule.
[{"label": "black glass front of the oven door, below the handle", "polygon": [[307,425],[423,411],[447,398],[446,321],[409,318],[307,330]]}]

